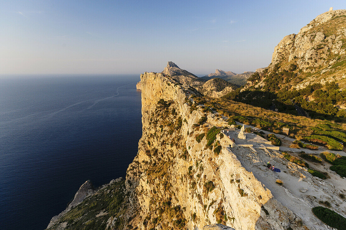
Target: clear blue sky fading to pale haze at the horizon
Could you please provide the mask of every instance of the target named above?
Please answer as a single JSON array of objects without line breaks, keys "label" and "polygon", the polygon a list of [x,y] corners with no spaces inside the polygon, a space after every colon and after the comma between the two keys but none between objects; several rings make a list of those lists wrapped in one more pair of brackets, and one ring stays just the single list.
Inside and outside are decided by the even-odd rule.
[{"label": "clear blue sky fading to pale haze at the horizon", "polygon": [[199,76],[254,71],[343,1],[0,2],[1,74],[139,74],[167,61]]}]

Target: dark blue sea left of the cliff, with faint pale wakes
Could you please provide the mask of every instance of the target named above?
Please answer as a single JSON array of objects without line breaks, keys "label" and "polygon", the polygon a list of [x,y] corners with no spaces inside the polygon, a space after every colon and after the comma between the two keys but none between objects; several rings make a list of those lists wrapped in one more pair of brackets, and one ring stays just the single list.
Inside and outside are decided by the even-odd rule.
[{"label": "dark blue sea left of the cliff, with faint pale wakes", "polygon": [[0,229],[42,230],[79,187],[124,177],[139,76],[0,76]]}]

